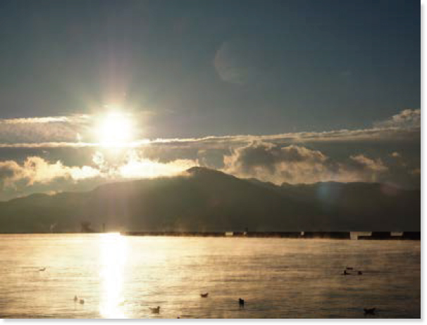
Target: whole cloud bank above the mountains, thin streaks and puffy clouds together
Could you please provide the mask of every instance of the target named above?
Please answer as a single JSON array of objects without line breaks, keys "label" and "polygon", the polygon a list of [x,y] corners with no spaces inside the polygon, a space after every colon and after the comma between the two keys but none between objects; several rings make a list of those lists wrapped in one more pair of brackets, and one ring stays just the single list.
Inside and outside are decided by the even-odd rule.
[{"label": "whole cloud bank above the mountains, thin streaks and puffy clouds together", "polygon": [[[392,181],[418,186],[421,171],[416,145],[421,141],[420,116],[420,110],[403,110],[366,129],[140,139],[115,150],[120,152],[116,158],[111,157],[109,148],[78,141],[80,129],[92,118],[87,115],[0,120],[0,140],[5,127],[16,128],[14,132],[25,127],[23,134],[18,134],[19,140],[28,140],[14,142],[9,138],[8,143],[0,143],[3,157],[8,157],[0,161],[0,186],[35,189],[40,184],[53,187],[56,182],[55,190],[61,191],[63,184],[86,183],[85,189],[89,189],[105,181],[171,176],[194,165],[276,184]],[[56,141],[63,139],[56,137],[56,132],[63,138],[68,134],[70,139]],[[46,141],[39,141],[41,134]],[[377,148],[384,148],[377,151],[382,156],[372,157],[371,152]],[[19,163],[17,155],[25,160]],[[49,161],[45,160],[47,157]],[[11,196],[9,191],[8,197]],[[4,196],[0,193],[0,197]]]}]

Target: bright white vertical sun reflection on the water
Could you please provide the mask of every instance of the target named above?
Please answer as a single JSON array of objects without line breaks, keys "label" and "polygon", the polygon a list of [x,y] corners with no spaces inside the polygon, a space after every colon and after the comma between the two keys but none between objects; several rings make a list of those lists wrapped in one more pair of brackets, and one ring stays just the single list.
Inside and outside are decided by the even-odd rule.
[{"label": "bright white vertical sun reflection on the water", "polygon": [[120,234],[101,235],[101,300],[99,313],[106,318],[127,318],[123,311],[123,276],[127,242]]}]

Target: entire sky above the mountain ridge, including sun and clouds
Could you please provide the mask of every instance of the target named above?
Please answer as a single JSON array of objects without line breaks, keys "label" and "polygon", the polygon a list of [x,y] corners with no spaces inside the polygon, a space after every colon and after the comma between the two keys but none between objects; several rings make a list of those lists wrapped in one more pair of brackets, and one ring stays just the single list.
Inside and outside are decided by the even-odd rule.
[{"label": "entire sky above the mountain ridge, including sun and clouds", "polygon": [[0,1],[0,200],[199,165],[419,188],[419,1]]}]

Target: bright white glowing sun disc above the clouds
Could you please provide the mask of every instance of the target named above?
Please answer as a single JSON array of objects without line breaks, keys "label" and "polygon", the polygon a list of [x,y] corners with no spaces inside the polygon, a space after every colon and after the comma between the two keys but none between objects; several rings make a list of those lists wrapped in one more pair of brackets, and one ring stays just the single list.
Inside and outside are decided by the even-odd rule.
[{"label": "bright white glowing sun disc above the clouds", "polygon": [[101,117],[96,129],[97,138],[104,146],[124,146],[132,140],[134,133],[132,120],[121,112],[110,112]]}]

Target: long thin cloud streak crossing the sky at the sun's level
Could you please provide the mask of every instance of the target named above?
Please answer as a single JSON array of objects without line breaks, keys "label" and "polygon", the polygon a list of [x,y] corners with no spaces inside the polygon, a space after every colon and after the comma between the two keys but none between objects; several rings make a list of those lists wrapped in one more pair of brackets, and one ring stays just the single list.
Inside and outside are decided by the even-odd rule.
[{"label": "long thin cloud streak crossing the sky at the sun's level", "polygon": [[[204,136],[199,138],[171,139],[139,139],[123,144],[127,148],[144,148],[147,146],[192,146],[197,149],[219,149],[239,147],[253,141],[270,142],[272,144],[307,144],[316,142],[378,142],[378,141],[414,141],[421,138],[420,110],[403,110],[390,119],[376,122],[366,129],[340,129],[326,132],[291,132],[267,135],[225,135]],[[80,116],[80,117],[79,117]],[[42,117],[37,117],[36,120]],[[63,119],[63,117],[46,117]],[[68,117],[68,122],[23,123],[23,129],[17,129],[20,123],[0,123],[0,148],[80,148],[100,147],[97,142],[82,141],[82,134],[87,132],[84,121],[88,115]],[[16,120],[16,119],[15,119]],[[25,119],[26,120],[26,119]],[[28,120],[35,120],[30,118]],[[73,124],[73,123],[75,124]],[[5,126],[13,127],[8,129]]]}]

